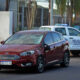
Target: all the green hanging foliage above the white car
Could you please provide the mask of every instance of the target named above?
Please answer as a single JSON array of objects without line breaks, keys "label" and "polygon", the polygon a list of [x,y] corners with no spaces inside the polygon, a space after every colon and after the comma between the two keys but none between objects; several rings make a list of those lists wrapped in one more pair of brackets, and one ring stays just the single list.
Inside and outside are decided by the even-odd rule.
[{"label": "all the green hanging foliage above the white car", "polygon": [[[66,5],[67,4],[67,5]],[[70,17],[70,25],[74,24],[74,20],[80,15],[80,0],[56,0],[58,13],[63,17],[65,10],[67,9],[67,19]],[[73,14],[75,18],[73,20]]]}]

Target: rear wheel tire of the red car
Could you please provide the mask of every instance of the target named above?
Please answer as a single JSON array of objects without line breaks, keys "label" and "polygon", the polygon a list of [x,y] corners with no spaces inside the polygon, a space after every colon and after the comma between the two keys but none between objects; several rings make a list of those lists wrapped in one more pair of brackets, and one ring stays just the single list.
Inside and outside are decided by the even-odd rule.
[{"label": "rear wheel tire of the red car", "polygon": [[63,61],[62,61],[62,63],[60,65],[61,65],[61,67],[68,67],[69,63],[70,63],[70,53],[66,52],[64,54]]}]

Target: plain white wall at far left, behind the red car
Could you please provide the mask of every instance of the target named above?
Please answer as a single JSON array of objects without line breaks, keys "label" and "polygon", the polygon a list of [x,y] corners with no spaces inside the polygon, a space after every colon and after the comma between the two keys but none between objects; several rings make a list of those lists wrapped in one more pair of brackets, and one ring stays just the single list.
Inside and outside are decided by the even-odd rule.
[{"label": "plain white wall at far left, behind the red car", "polygon": [[0,41],[12,35],[13,15],[9,11],[0,11]]}]

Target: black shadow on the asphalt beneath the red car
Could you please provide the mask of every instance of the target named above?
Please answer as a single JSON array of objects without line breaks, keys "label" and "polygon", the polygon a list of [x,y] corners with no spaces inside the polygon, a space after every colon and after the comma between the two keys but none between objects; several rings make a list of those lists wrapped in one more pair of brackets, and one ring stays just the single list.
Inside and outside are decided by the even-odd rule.
[{"label": "black shadow on the asphalt beneath the red car", "polygon": [[[45,71],[41,74],[44,74],[44,73],[48,73],[48,72],[55,72],[55,71],[59,71],[59,70],[62,70],[62,69],[65,69],[65,68],[62,68],[60,67],[60,65],[49,65],[47,67],[45,67]],[[33,75],[33,74],[39,74],[36,72],[35,69],[26,69],[26,70],[13,70],[13,69],[3,69],[0,71],[0,74],[17,74],[17,75],[23,75],[23,74],[27,74],[27,75]]]}]

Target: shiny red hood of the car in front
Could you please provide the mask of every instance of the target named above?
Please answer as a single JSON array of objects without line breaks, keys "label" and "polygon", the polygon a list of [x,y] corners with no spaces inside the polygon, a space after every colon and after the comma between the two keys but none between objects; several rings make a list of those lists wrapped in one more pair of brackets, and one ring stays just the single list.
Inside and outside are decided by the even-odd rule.
[{"label": "shiny red hood of the car in front", "polygon": [[39,45],[1,45],[0,52],[24,52],[34,50]]}]

